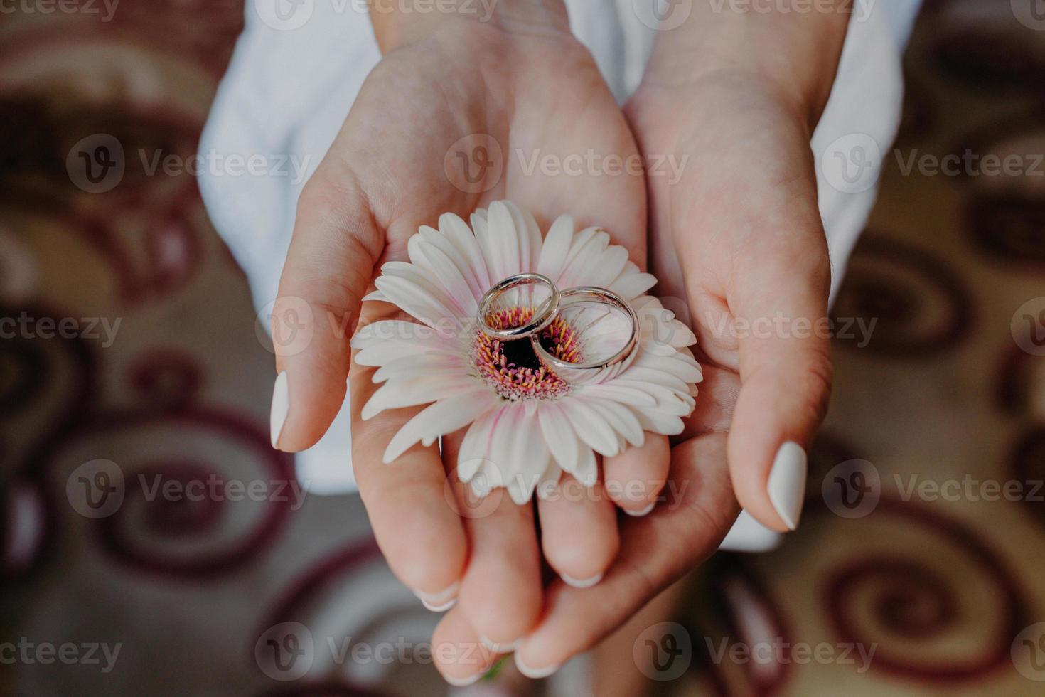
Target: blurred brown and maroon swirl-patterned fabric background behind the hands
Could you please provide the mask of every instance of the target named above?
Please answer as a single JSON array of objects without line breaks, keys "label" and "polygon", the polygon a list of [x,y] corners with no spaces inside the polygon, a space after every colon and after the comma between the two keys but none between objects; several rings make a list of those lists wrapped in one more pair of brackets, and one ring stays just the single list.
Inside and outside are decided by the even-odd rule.
[{"label": "blurred brown and maroon swirl-patterned fabric background behind the hands", "polygon": [[[1045,17],[1023,4],[927,1],[802,529],[716,556],[549,684],[506,667],[470,694],[583,694],[593,670],[599,695],[1045,693]],[[243,278],[164,164],[194,153],[241,1],[18,7],[0,695],[446,694],[437,617],[358,499],[288,486]]]}]

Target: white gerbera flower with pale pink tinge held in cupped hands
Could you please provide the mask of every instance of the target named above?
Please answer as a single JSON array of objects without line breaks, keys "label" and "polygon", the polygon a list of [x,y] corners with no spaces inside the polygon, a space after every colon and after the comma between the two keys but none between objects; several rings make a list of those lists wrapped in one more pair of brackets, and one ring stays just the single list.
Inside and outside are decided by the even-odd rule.
[{"label": "white gerbera flower with pale pink tinge held in cupped hands", "polygon": [[[696,336],[644,295],[656,279],[640,272],[623,247],[610,245],[604,230],[575,233],[573,218],[563,215],[541,240],[530,213],[494,202],[489,213],[472,214],[471,228],[457,215],[442,215],[438,230],[422,227],[411,237],[408,252],[409,263],[381,266],[377,291],[365,300],[391,302],[424,326],[375,322],[352,339],[356,363],[377,367],[374,382],[384,382],[363,408],[364,419],[431,403],[393,437],[386,463],[418,441],[431,445],[471,424],[458,458],[459,479],[481,496],[507,487],[524,504],[563,471],[594,485],[596,452],[611,457],[628,444],[642,445],[647,431],[681,433],[701,380],[687,348]],[[480,330],[474,318],[483,295],[522,272],[543,274],[560,289],[599,286],[629,301],[640,318],[633,363],[605,381],[578,382],[543,365],[528,339],[502,342]],[[518,326],[532,312],[526,304],[508,306],[495,320]],[[607,353],[613,342],[608,353],[623,345],[620,331],[590,331],[580,318],[583,312],[574,319],[562,312],[545,330],[542,345],[556,357],[579,363]]]}]

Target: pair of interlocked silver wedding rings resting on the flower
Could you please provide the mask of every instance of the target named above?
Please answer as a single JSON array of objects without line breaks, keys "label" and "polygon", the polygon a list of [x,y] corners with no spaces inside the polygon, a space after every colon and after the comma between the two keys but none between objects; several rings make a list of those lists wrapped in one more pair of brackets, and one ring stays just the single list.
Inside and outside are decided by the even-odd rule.
[{"label": "pair of interlocked silver wedding rings resting on the flower", "polygon": [[[491,326],[489,318],[492,310],[508,292],[524,286],[543,287],[548,291],[548,298],[534,307],[533,317],[526,323],[515,326],[500,328]],[[553,355],[540,343],[540,332],[549,327],[555,318],[559,316],[560,309],[575,303],[595,303],[605,305],[620,310],[630,322],[630,330],[627,341],[619,351],[608,358],[588,361],[586,363],[570,363]],[[606,288],[596,286],[581,286],[559,291],[555,283],[548,276],[542,274],[515,274],[496,283],[486,292],[479,303],[479,326],[489,336],[502,341],[514,341],[518,339],[530,339],[534,353],[536,353],[545,365],[563,376],[598,376],[599,379],[607,379],[624,372],[634,359],[638,350],[638,316],[624,298]]]}]

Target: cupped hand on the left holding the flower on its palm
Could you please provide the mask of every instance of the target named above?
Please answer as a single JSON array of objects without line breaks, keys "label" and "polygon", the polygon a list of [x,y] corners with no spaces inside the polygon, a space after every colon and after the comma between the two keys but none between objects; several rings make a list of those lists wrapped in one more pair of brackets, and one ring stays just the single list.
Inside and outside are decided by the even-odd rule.
[{"label": "cupped hand on the left holding the flower on its palm", "polygon": [[[619,548],[614,504],[633,513],[648,508],[667,474],[667,440],[650,437],[604,463],[607,478],[648,483],[631,498],[610,501],[597,487],[597,495],[541,502],[535,511],[503,496],[483,517],[460,516],[446,495],[460,436],[444,439],[446,468],[436,445],[382,464],[389,441],[420,408],[363,420],[377,386],[372,368],[352,364],[348,339],[357,321],[395,313],[366,302],[361,318],[361,299],[382,262],[407,258],[419,226],[437,225],[445,212],[467,219],[500,199],[532,211],[541,230],[563,212],[580,227],[602,225],[645,266],[642,175],[567,166],[591,153],[638,157],[564,15],[511,27],[447,22],[386,54],[298,205],[273,317],[278,324],[294,310],[311,339],[303,349],[277,346],[277,390],[286,391],[288,406],[285,418],[276,410],[273,441],[287,451],[312,445],[341,408],[351,372],[359,492],[396,576],[429,607],[459,600],[435,637],[437,666],[455,682],[477,678],[495,657],[490,647],[507,650],[537,624],[542,553],[575,585],[598,581]],[[299,311],[302,302],[307,311]],[[462,495],[460,485],[452,489]]]}]

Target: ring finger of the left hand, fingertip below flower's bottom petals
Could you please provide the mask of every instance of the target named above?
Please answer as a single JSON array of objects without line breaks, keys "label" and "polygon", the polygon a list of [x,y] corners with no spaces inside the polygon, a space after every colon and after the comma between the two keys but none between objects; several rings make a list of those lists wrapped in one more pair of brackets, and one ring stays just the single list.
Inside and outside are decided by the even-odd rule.
[{"label": "ring finger of the left hand, fingertip below flower's bottom petals", "polygon": [[589,588],[620,548],[617,509],[602,484],[590,489],[563,474],[548,498],[537,501],[544,559],[568,585]]}]

